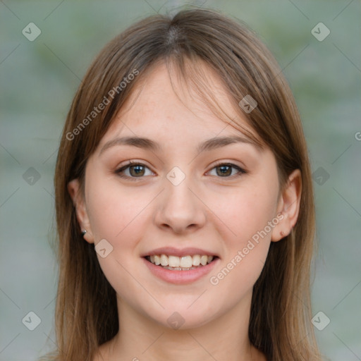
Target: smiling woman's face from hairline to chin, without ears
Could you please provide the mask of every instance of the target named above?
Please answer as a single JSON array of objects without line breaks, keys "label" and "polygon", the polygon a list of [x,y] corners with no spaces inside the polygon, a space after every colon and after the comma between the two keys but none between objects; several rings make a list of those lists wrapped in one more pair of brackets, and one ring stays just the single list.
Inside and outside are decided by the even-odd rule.
[{"label": "smiling woman's face from hairline to chin, without ears", "polygon": [[[118,301],[167,327],[178,312],[173,318],[194,328],[248,309],[283,215],[271,150],[176,79],[178,96],[157,66],[117,114],[87,162],[77,210]],[[247,126],[240,112],[233,116]]]}]

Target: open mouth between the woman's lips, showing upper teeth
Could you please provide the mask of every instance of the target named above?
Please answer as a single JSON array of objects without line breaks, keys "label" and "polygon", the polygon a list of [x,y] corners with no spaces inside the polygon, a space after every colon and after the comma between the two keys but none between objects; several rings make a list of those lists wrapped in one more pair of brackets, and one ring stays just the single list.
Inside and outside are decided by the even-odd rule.
[{"label": "open mouth between the woman's lips, showing upper teeth", "polygon": [[149,263],[170,271],[190,271],[216,262],[215,255],[185,255],[182,257],[174,255],[147,255],[144,257]]}]

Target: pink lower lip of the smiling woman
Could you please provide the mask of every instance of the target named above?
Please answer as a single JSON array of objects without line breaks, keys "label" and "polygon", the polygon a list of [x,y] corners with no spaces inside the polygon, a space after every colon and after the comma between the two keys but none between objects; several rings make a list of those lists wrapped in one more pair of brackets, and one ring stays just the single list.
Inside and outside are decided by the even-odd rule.
[{"label": "pink lower lip of the smiling woman", "polygon": [[176,284],[192,283],[201,279],[206,274],[209,274],[215,264],[219,262],[219,258],[216,258],[211,263],[202,267],[189,269],[188,271],[171,271],[170,269],[164,269],[163,267],[156,266],[155,264],[152,264],[152,262],[147,261],[145,258],[143,258],[143,260],[149,268],[149,271],[151,271],[154,276],[157,276],[163,281]]}]

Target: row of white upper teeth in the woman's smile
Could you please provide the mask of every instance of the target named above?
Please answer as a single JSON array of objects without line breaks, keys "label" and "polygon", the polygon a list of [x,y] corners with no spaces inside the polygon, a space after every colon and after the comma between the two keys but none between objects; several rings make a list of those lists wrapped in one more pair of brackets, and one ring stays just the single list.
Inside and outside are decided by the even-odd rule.
[{"label": "row of white upper teeth in the woman's smile", "polygon": [[191,267],[197,267],[201,264],[202,266],[205,266],[206,264],[211,263],[213,259],[213,256],[207,255],[194,255],[183,257],[167,255],[149,256],[149,260],[150,262],[152,262],[152,264],[156,264],[157,266],[159,266],[160,264],[166,269],[190,269]]}]

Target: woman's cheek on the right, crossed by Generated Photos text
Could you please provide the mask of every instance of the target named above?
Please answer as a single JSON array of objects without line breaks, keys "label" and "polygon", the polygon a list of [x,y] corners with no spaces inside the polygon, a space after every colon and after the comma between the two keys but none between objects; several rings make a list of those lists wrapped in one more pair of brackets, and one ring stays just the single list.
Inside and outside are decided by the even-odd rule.
[{"label": "woman's cheek on the right, crossed by Generated Photos text", "polygon": [[267,258],[272,230],[279,222],[275,217],[278,184],[270,183],[256,180],[252,186],[233,192],[232,197],[223,195],[228,202],[212,205],[218,204],[214,209],[221,221],[214,223],[223,234],[226,256],[209,282],[234,302],[257,281]]}]

